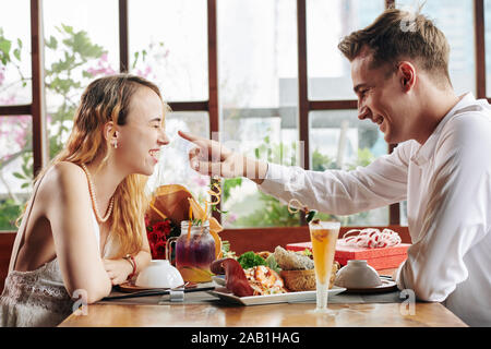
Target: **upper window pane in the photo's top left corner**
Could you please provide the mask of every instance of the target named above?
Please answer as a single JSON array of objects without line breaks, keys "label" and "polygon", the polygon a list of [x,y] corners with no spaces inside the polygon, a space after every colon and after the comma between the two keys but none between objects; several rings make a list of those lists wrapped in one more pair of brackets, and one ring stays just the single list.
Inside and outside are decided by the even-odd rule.
[{"label": "upper window pane in the photo's top left corner", "polygon": [[0,106],[31,104],[29,1],[0,0]]}]

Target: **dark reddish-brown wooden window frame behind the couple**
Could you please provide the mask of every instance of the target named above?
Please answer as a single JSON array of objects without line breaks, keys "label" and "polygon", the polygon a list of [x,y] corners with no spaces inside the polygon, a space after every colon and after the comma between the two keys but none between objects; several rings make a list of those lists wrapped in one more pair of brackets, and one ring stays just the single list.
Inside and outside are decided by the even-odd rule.
[{"label": "dark reddish-brown wooden window frame behind the couple", "polygon": [[[394,7],[395,0],[385,0],[385,8]],[[208,58],[208,99],[202,101],[172,101],[169,103],[173,111],[206,111],[209,116],[209,137],[217,140],[219,128],[219,91],[218,91],[218,57],[217,57],[217,0],[207,0],[207,58]],[[297,0],[297,31],[298,31],[298,125],[299,141],[303,142],[303,154],[300,154],[300,164],[309,169],[309,113],[314,110],[357,109],[356,99],[345,100],[310,100],[308,97],[307,70],[307,0]],[[486,95],[486,33],[484,33],[484,0],[474,0],[475,16],[475,49],[476,49],[476,92],[477,98],[491,98]],[[28,105],[0,106],[0,116],[15,117],[29,115],[33,124],[33,154],[34,177],[49,160],[48,137],[46,130],[46,103],[44,84],[44,33],[43,33],[43,0],[31,0],[31,46],[32,46],[32,103]],[[129,68],[129,24],[128,0],[119,0],[119,60],[120,72],[128,72]],[[217,140],[218,141],[218,140]],[[387,152],[394,149],[387,146]],[[218,212],[214,217],[221,221]],[[399,203],[390,205],[388,224],[400,227]],[[306,226],[304,216],[301,226]],[[256,230],[258,228],[227,229]],[[284,227],[283,230],[291,228]]]}]

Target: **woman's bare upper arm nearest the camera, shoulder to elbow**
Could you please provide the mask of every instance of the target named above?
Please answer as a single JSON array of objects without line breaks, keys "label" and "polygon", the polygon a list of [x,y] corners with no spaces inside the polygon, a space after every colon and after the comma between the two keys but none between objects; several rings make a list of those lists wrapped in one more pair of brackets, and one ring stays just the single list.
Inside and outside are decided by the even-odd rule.
[{"label": "woman's bare upper arm nearest the camera, shoulder to elbow", "polygon": [[70,294],[86,292],[87,302],[96,302],[110,293],[111,280],[98,251],[85,173],[74,164],[59,163],[44,181],[52,193],[46,215],[65,288]]}]

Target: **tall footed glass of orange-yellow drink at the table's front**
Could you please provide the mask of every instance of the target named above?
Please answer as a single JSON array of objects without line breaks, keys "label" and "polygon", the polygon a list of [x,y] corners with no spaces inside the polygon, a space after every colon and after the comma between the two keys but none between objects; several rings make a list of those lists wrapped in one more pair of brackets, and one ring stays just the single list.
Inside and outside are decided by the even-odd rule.
[{"label": "tall footed glass of orange-yellow drink at the table's front", "polygon": [[327,310],[327,292],[339,228],[339,221],[314,219],[309,222],[316,281],[315,313],[331,313]]}]

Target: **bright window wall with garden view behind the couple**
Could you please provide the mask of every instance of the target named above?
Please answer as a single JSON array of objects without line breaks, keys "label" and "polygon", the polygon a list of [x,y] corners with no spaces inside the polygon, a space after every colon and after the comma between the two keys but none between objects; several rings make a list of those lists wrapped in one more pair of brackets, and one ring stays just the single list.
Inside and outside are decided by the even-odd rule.
[{"label": "bright window wall with garden view behind the couple", "polygon": [[[180,183],[206,198],[209,178],[189,168],[190,145],[177,130],[312,170],[369,165],[391,148],[376,125],[357,119],[349,62],[337,44],[390,5],[419,2],[0,0],[0,230],[16,230],[33,176],[63,146],[84,87],[120,71],[155,82],[175,110],[149,192]],[[456,92],[490,97],[491,0],[427,0],[422,12],[451,44]],[[33,43],[41,55],[32,55]],[[249,180],[221,184],[225,228],[302,224]],[[407,225],[405,203],[335,218]]]}]

